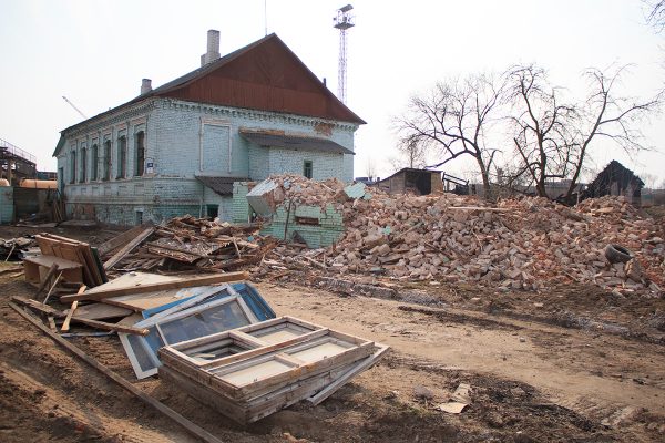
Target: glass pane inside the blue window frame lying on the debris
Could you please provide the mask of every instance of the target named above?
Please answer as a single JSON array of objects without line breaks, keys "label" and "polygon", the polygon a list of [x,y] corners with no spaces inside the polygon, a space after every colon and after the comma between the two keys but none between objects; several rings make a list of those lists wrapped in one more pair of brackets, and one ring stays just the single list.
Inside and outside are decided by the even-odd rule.
[{"label": "glass pane inside the blue window frame lying on the debris", "polygon": [[174,344],[246,324],[249,324],[249,319],[238,303],[233,301],[177,320],[160,323],[160,329],[166,342]]}]

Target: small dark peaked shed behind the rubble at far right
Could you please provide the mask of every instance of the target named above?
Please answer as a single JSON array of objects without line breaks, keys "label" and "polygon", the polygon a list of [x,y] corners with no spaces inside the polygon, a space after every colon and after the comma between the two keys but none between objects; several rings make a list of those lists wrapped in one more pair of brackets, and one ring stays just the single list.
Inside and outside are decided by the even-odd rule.
[{"label": "small dark peaked shed behind the rubble at far right", "polygon": [[583,198],[596,198],[605,195],[623,195],[633,205],[640,205],[644,182],[613,159],[607,166],[589,184],[582,193]]}]

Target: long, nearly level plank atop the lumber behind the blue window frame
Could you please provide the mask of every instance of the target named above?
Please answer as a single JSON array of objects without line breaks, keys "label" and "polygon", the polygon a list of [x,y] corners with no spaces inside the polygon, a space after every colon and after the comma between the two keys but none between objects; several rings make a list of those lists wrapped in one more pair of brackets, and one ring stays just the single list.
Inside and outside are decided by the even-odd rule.
[{"label": "long, nearly level plank atop the lumber behind the blue window frame", "polygon": [[193,286],[208,286],[208,285],[217,285],[217,284],[226,284],[229,281],[242,281],[246,280],[249,277],[248,272],[227,272],[227,274],[215,274],[209,276],[198,276],[198,277],[188,277],[181,278],[174,281],[165,281],[157,284],[147,284],[147,285],[137,285],[131,288],[120,288],[120,289],[108,289],[100,291],[88,291],[81,295],[71,295],[63,296],[60,298],[63,302],[70,302],[74,300],[103,300],[105,298],[117,297],[117,296],[126,296],[130,293],[145,293],[145,292],[154,292],[166,289],[180,289],[180,288],[188,288]]}]

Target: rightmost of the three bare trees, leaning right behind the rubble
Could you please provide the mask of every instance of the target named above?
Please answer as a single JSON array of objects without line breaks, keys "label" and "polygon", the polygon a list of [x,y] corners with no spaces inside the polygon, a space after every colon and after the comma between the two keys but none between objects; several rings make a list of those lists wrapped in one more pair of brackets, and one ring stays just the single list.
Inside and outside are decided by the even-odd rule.
[{"label": "rightmost of the three bare trees, leaning right behind the rubble", "polygon": [[621,66],[608,73],[590,69],[584,74],[591,92],[586,101],[579,105],[580,119],[573,142],[575,148],[570,158],[572,176],[566,197],[575,190],[593,141],[612,141],[630,155],[648,150],[638,123],[659,110],[663,92],[646,100],[617,95],[615,90],[626,69],[627,66]]}]

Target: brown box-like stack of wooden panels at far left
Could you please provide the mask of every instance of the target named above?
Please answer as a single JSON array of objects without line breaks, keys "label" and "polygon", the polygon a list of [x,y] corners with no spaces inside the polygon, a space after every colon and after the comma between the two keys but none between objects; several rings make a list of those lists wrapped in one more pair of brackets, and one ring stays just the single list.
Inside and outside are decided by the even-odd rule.
[{"label": "brown box-like stack of wooden panels at far left", "polygon": [[83,282],[89,288],[108,281],[100,256],[89,244],[48,233],[38,235],[35,239],[42,255],[24,259],[28,281],[35,285],[43,282],[45,271],[51,267],[62,272],[64,281]]}]

